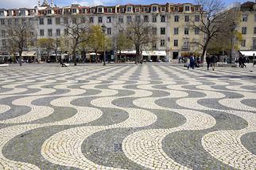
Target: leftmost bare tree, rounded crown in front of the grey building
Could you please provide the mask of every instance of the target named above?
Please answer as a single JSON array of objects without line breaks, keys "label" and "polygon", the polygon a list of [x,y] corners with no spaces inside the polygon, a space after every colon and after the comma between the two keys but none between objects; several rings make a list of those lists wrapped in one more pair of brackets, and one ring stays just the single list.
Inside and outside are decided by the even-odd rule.
[{"label": "leftmost bare tree, rounded crown in front of the grey building", "polygon": [[34,36],[32,22],[33,21],[29,21],[28,19],[21,18],[20,20],[15,20],[15,22],[6,26],[8,43],[10,43],[9,46],[17,47],[20,66],[22,66],[21,58],[25,45],[29,43]]}]

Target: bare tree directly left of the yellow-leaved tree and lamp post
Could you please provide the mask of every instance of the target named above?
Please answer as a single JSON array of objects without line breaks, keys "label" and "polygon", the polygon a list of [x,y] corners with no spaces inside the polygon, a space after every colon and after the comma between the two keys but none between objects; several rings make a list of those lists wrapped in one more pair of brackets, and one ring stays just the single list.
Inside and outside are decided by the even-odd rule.
[{"label": "bare tree directly left of the yellow-leaved tree and lamp post", "polygon": [[89,39],[90,26],[85,22],[79,21],[79,15],[72,17],[64,17],[65,32],[72,39],[72,55],[73,62],[76,66],[76,50],[80,43],[86,42]]}]

